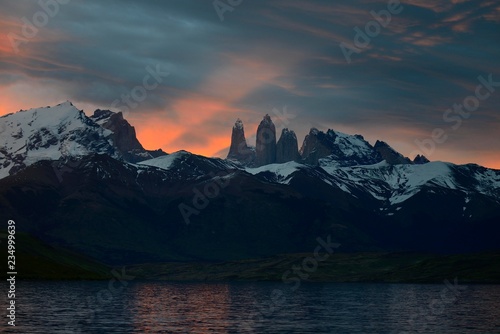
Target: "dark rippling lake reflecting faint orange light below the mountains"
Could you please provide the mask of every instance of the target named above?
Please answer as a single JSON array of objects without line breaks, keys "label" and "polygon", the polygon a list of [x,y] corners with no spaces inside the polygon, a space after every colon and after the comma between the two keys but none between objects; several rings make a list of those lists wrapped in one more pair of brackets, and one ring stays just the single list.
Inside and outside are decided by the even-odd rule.
[{"label": "dark rippling lake reflecting faint orange light below the mountains", "polygon": [[500,286],[453,281],[295,290],[280,282],[31,281],[17,283],[16,298],[8,332],[500,333]]}]

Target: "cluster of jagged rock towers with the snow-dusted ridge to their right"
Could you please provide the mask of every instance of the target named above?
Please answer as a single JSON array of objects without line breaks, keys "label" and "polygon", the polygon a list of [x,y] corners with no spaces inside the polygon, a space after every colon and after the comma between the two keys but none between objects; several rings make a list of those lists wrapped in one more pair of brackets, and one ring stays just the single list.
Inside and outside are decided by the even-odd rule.
[{"label": "cluster of jagged rock towers with the snow-dusted ridge to their right", "polygon": [[391,165],[414,163],[384,141],[378,140],[372,146],[362,135],[348,135],[333,129],[323,132],[311,128],[298,150],[297,136],[288,128],[282,129],[276,142],[276,128],[269,114],[263,117],[257,129],[255,153],[246,144],[243,122],[236,120],[228,159],[247,167],[289,161],[318,165],[322,159],[338,166],[372,165],[384,160]]}]

